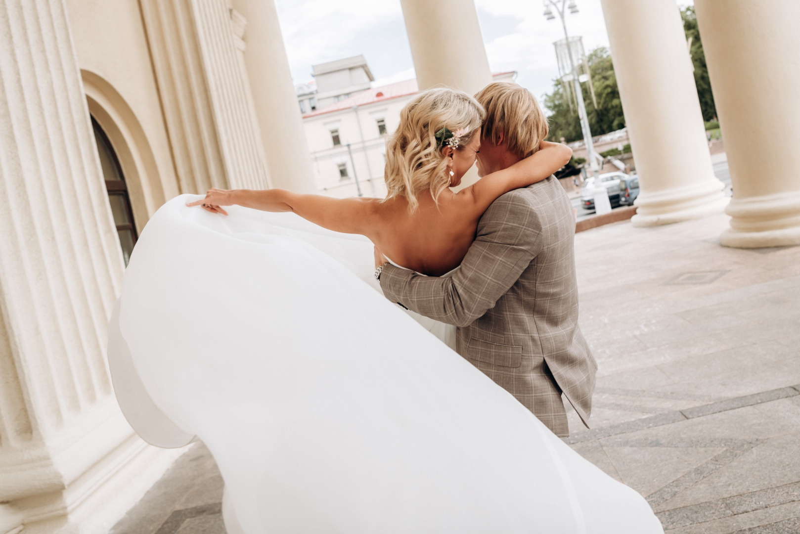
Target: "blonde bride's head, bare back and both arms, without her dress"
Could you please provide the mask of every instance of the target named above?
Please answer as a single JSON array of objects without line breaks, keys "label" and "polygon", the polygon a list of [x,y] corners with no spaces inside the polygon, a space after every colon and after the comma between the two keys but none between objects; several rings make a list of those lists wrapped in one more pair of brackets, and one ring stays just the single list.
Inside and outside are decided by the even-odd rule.
[{"label": "blonde bride's head, bare back and both arms, without her dress", "polygon": [[475,163],[482,106],[462,91],[426,90],[400,112],[386,143],[386,199],[331,199],[291,191],[224,191],[187,204],[226,214],[238,204],[293,211],[329,230],[365,235],[393,263],[424,275],[452,271],[475,239],[478,220],[500,195],[546,179],[570,161],[566,145],[542,141],[538,151],[458,193],[450,191]]}]

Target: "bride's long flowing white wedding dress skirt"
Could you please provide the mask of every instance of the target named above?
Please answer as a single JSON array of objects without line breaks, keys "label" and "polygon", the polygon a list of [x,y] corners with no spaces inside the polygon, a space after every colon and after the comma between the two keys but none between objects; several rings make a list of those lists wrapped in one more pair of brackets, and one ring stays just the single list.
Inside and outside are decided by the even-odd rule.
[{"label": "bride's long flowing white wedding dress skirt", "polygon": [[387,301],[367,239],[193,199],[142,232],[109,359],[140,436],[214,455],[229,532],[662,532],[642,496]]}]

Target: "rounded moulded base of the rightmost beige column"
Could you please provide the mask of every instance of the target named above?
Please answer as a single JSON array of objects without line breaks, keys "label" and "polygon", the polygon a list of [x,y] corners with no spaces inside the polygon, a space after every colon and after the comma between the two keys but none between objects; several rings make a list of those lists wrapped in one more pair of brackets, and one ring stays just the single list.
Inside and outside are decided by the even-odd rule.
[{"label": "rounded moulded base of the rightmost beige column", "polygon": [[725,247],[800,245],[800,191],[733,199],[726,213],[730,228],[719,238]]}]

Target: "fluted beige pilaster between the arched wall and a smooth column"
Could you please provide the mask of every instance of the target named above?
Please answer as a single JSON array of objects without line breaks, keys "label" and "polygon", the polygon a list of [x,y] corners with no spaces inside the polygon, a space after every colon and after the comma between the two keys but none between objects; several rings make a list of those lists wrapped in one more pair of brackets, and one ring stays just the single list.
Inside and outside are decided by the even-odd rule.
[{"label": "fluted beige pilaster between the arched wall and a smooth column", "polygon": [[269,187],[227,2],[140,6],[181,191]]}]

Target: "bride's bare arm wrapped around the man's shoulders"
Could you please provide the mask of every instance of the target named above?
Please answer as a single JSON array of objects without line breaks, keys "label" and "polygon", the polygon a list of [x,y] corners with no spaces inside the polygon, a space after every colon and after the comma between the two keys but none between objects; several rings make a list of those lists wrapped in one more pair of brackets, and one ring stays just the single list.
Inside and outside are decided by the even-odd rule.
[{"label": "bride's bare arm wrapped around the man's shoulders", "polygon": [[495,199],[519,187],[537,183],[564,167],[572,157],[572,149],[561,143],[542,141],[533,155],[514,163],[502,171],[484,176],[467,187],[465,192],[473,195],[476,211],[482,214]]}]

